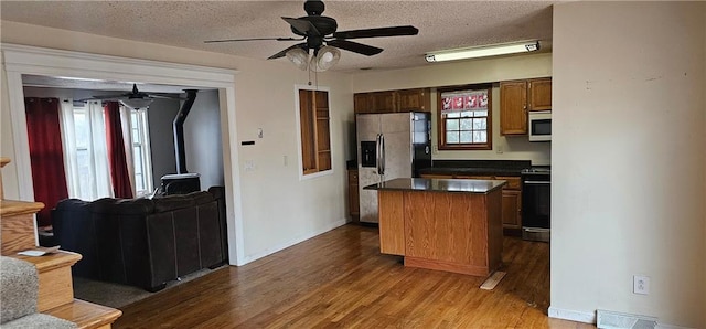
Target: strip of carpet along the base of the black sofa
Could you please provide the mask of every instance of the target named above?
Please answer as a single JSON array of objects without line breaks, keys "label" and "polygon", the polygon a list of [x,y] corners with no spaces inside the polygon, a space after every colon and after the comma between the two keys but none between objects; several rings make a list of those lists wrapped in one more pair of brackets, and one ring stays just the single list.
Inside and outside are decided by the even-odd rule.
[{"label": "strip of carpet along the base of the black sofa", "polygon": [[169,290],[170,288],[173,288],[175,286],[183,285],[184,283],[204,276],[211,272],[221,269],[225,266],[227,265],[223,265],[214,269],[201,269],[181,277],[181,280],[171,280],[167,283],[167,287],[164,289],[157,293],[150,293],[142,288],[133,286],[104,283],[74,276],[74,297],[113,308],[121,308],[132,303],[142,300],[147,297]]}]

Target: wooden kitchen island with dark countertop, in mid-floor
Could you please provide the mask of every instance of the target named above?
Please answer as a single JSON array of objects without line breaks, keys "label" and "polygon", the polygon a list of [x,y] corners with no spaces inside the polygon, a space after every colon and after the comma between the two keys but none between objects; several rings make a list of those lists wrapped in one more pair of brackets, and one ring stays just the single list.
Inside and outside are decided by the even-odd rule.
[{"label": "wooden kitchen island with dark countertop, in mid-floor", "polygon": [[377,190],[381,253],[405,266],[488,276],[501,264],[504,180],[399,178]]}]

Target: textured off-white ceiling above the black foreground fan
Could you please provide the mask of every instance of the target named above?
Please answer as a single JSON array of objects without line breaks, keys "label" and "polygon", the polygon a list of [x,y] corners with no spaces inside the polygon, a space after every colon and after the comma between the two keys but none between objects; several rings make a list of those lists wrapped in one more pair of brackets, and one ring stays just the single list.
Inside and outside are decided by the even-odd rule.
[{"label": "textured off-white ceiling above the black foreground fan", "polygon": [[[357,39],[384,49],[364,56],[343,51],[334,71],[427,64],[429,51],[539,40],[550,46],[557,1],[324,1],[339,31],[414,25],[419,34]],[[253,59],[295,41],[205,44],[205,40],[295,36],[280,17],[302,17],[303,1],[0,1],[2,20],[167,44]],[[275,61],[287,61],[279,59]]]}]

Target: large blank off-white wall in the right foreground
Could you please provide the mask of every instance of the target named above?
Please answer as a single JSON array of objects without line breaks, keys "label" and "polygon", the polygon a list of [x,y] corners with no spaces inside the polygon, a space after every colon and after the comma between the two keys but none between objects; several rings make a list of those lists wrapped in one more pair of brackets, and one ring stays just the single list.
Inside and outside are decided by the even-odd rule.
[{"label": "large blank off-white wall in the right foreground", "polygon": [[555,6],[550,316],[706,328],[705,43],[704,2]]}]

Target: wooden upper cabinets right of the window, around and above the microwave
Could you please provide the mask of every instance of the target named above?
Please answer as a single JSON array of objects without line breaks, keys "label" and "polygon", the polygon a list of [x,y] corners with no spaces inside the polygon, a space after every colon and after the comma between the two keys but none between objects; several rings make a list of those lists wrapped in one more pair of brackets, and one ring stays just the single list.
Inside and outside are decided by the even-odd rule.
[{"label": "wooden upper cabinets right of the window, around and above the microwave", "polygon": [[552,78],[500,83],[500,134],[527,135],[527,112],[552,109]]}]

